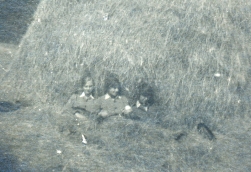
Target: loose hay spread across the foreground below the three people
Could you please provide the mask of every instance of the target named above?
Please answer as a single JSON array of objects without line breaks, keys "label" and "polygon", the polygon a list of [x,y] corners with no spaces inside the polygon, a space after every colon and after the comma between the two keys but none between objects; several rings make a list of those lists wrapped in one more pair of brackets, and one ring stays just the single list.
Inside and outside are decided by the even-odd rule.
[{"label": "loose hay spread across the foreground below the three people", "polygon": [[[102,124],[51,107],[1,114],[1,169],[9,171],[249,171],[250,120],[222,120],[209,141],[196,128],[113,117]],[[173,117],[170,117],[173,120]],[[180,133],[187,133],[177,141]],[[87,145],[81,143],[84,134]],[[61,151],[58,153],[57,151]],[[4,163],[2,163],[4,162]]]}]

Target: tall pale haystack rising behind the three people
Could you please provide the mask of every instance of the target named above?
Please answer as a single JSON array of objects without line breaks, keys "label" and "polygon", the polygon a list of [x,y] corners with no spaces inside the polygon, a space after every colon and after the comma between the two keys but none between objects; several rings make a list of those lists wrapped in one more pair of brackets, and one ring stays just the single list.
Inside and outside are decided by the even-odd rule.
[{"label": "tall pale haystack rising behind the three people", "polygon": [[136,78],[147,78],[170,109],[228,115],[250,78],[248,9],[245,1],[45,0],[9,84],[17,99],[64,103],[84,70],[98,88],[108,71],[131,92]]}]

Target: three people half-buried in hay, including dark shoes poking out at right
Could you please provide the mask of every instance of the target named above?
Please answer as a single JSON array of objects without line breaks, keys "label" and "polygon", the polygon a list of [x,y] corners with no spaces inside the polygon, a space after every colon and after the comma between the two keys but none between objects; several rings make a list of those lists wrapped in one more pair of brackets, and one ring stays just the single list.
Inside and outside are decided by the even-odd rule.
[{"label": "three people half-buried in hay, including dark shoes poking out at right", "polygon": [[[104,95],[100,97],[94,96],[95,83],[91,75],[87,75],[82,79],[82,92],[73,94],[67,102],[66,108],[71,114],[77,118],[85,118],[90,114],[98,122],[102,122],[111,116],[123,116],[132,120],[147,120],[151,123],[163,123],[163,114],[158,106],[152,106],[154,103],[153,88],[146,82],[136,82],[134,96],[132,102],[121,94],[121,84],[117,77],[106,77],[104,84]],[[157,109],[156,109],[157,108]],[[209,127],[204,123],[197,126],[200,133],[209,140],[214,140],[215,136]],[[186,136],[180,133],[175,140],[180,140]]]}]

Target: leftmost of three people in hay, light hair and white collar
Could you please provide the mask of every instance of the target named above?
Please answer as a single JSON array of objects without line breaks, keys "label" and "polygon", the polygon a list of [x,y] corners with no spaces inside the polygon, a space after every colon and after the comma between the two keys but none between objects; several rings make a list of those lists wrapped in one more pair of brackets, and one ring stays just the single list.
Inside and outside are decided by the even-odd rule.
[{"label": "leftmost of three people in hay, light hair and white collar", "polygon": [[81,85],[83,92],[80,95],[73,94],[66,104],[66,108],[68,110],[71,109],[70,113],[75,114],[79,118],[83,118],[81,112],[95,113],[97,111],[93,97],[94,81],[90,75],[82,79]]}]

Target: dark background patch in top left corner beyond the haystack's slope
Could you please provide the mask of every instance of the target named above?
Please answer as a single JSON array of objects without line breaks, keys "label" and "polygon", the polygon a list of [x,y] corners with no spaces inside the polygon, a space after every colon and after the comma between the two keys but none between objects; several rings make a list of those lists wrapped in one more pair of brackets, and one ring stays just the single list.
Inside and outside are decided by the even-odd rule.
[{"label": "dark background patch in top left corner beyond the haystack's slope", "polygon": [[0,0],[0,42],[19,44],[40,0]]}]

